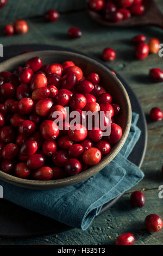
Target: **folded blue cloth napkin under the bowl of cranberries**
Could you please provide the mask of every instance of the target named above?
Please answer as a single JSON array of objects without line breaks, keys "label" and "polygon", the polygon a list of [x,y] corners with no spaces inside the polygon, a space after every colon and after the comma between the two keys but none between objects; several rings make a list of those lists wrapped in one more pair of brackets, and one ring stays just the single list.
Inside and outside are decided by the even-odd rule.
[{"label": "folded blue cloth napkin under the bowl of cranberries", "polygon": [[48,191],[28,190],[0,181],[4,198],[71,227],[87,229],[105,203],[135,186],[144,176],[127,160],[141,134],[136,126],[138,119],[139,115],[133,113],[130,133],[121,152],[91,178]]}]

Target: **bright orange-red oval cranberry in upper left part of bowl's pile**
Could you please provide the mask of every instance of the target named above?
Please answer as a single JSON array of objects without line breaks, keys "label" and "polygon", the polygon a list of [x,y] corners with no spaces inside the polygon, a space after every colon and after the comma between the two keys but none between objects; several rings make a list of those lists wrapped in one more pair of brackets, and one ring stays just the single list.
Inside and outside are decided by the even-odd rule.
[{"label": "bright orange-red oval cranberry in upper left part of bowl's pile", "polygon": [[30,90],[35,90],[40,87],[46,87],[47,86],[47,78],[45,75],[42,74],[36,74],[31,82],[30,82]]}]

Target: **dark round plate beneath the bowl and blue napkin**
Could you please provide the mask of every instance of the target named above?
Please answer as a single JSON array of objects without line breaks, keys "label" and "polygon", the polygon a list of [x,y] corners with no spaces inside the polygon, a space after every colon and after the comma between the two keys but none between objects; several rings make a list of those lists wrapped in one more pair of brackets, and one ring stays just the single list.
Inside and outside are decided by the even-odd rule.
[{"label": "dark round plate beneath the bowl and blue napkin", "polygon": [[[20,52],[26,50],[73,51],[71,49],[50,45],[14,45],[4,47],[5,57],[1,57],[0,61],[4,61],[5,59],[14,57]],[[137,144],[135,145],[135,148],[128,157],[128,159],[131,162],[135,163],[136,166],[141,167],[147,147],[147,125],[145,115],[142,112],[139,100],[137,100],[137,97],[134,94],[134,92],[130,89],[128,84],[123,80],[121,76],[119,76],[118,74],[117,76],[121,80],[121,82],[123,83],[124,87],[128,92],[133,111],[139,113],[140,115],[137,126],[141,129],[141,137]],[[115,198],[108,204],[105,204],[99,215],[101,215],[104,211],[106,211],[112,205],[114,205],[121,196]],[[25,208],[22,208],[21,206],[10,203],[5,199],[0,200],[0,237],[14,238],[42,236],[60,233],[68,229],[71,229],[71,227],[68,227],[65,224],[52,220],[51,218],[37,214],[36,212],[29,211]]]}]

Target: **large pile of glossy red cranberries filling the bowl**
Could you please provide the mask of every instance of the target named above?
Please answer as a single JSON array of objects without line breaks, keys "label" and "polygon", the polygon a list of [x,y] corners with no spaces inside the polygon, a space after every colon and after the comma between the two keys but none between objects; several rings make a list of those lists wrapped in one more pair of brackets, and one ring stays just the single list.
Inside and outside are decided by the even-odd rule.
[{"label": "large pile of glossy red cranberries filling the bowl", "polygon": [[[50,180],[78,174],[101,161],[121,139],[122,129],[115,124],[120,106],[112,103],[99,81],[96,73],[85,78],[71,61],[42,65],[40,57],[12,73],[0,72],[1,170],[20,178]],[[95,119],[92,130],[79,123],[72,129],[72,119],[65,120],[66,107],[82,120],[85,111],[103,112],[110,136],[103,136],[100,124],[95,127]],[[55,122],[56,112],[61,114],[62,129]]]}]

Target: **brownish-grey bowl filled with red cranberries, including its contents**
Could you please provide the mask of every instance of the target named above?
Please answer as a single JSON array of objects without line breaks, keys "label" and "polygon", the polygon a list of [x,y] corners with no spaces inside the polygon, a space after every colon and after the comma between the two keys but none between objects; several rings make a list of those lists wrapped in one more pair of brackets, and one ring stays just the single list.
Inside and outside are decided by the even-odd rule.
[{"label": "brownish-grey bowl filled with red cranberries, including its contents", "polygon": [[0,179],[33,188],[77,184],[123,147],[131,106],[116,75],[66,51],[0,64]]}]

